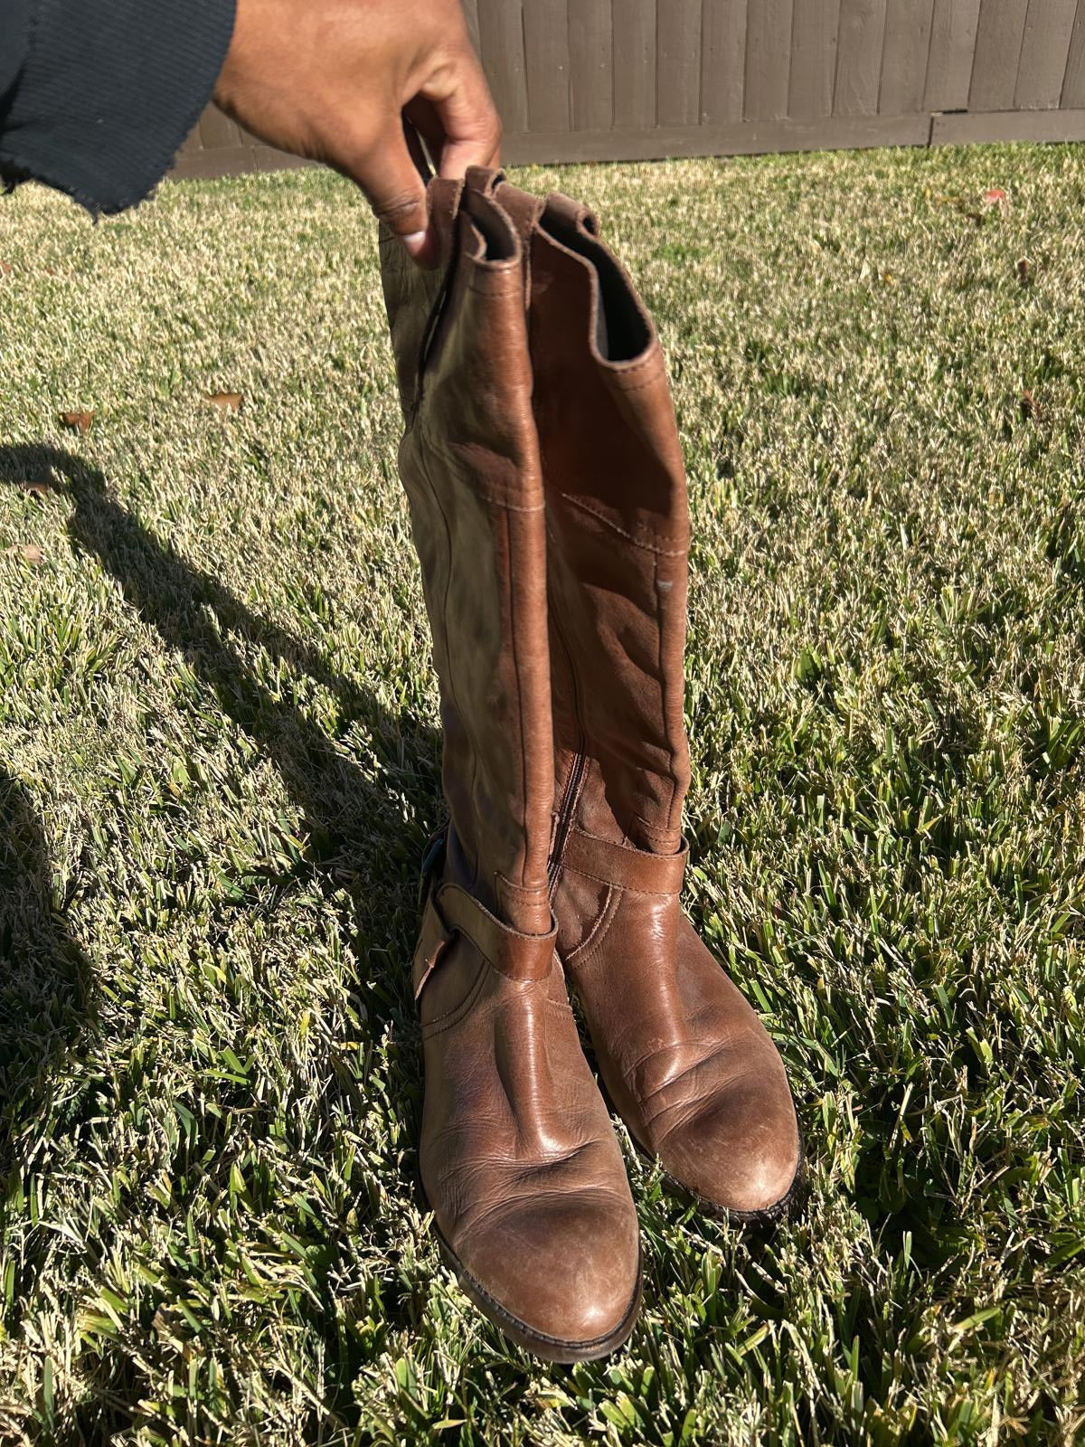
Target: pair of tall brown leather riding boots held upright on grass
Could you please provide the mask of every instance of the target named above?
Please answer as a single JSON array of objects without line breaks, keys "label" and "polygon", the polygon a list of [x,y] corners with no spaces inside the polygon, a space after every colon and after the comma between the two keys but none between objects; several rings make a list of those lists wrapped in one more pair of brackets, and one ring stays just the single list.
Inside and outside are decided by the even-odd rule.
[{"label": "pair of tall brown leather riding boots held upright on grass", "polygon": [[441,265],[382,273],[433,628],[450,822],[414,993],[422,1187],[476,1305],[605,1356],[641,1299],[602,1085],[703,1208],[787,1210],[783,1062],[681,912],[689,518],[663,355],[593,217],[501,172],[430,182]]}]

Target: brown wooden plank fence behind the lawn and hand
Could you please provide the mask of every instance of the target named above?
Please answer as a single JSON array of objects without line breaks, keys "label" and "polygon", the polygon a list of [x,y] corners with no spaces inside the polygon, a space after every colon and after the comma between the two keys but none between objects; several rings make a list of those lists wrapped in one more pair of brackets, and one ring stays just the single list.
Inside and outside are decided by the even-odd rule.
[{"label": "brown wooden plank fence behind the lawn and hand", "polygon": [[[1085,139],[1085,0],[466,0],[518,162]],[[175,175],[289,164],[208,110]]]}]

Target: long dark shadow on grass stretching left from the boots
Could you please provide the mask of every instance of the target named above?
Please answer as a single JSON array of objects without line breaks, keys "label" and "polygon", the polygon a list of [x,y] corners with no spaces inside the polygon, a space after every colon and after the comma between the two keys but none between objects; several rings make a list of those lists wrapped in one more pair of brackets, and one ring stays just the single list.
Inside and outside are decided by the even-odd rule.
[{"label": "long dark shadow on grass stretching left from the boots", "polygon": [[[129,605],[179,651],[223,712],[275,764],[302,816],[304,854],[276,886],[307,874],[344,886],[366,955],[366,1006],[376,1024],[409,1000],[407,959],[385,948],[409,932],[417,865],[441,813],[440,735],[411,712],[389,713],[366,687],[343,679],[321,653],[247,608],[218,579],[187,561],[110,496],[103,475],[45,446],[0,447],[3,480],[41,480],[74,504],[69,535],[117,580]],[[275,664],[333,693],[340,737],[362,725],[375,777],[334,747],[321,726],[272,693],[244,657],[263,648]],[[405,823],[404,820],[409,820]],[[409,948],[407,945],[405,948]]]}]

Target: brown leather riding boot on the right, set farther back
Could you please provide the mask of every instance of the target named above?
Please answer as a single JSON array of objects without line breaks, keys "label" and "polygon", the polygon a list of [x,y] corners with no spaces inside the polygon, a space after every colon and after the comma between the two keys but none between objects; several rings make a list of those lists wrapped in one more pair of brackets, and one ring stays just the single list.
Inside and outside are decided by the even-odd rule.
[{"label": "brown leather riding boot on the right, set farther back", "polygon": [[583,207],[469,184],[529,256],[558,954],[637,1143],[713,1213],[773,1220],[801,1171],[784,1065],[678,901],[689,512],[660,343]]}]

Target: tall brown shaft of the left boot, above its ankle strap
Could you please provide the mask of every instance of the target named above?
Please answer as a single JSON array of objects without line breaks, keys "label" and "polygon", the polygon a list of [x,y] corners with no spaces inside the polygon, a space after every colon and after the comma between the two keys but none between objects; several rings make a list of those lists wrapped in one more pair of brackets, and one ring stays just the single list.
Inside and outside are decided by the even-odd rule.
[{"label": "tall brown shaft of the left boot, above its ankle strap", "polygon": [[450,182],[433,182],[430,198],[440,271],[418,271],[386,237],[382,275],[441,695],[446,877],[542,933],[553,724],[524,256],[488,198]]}]

